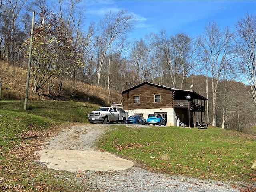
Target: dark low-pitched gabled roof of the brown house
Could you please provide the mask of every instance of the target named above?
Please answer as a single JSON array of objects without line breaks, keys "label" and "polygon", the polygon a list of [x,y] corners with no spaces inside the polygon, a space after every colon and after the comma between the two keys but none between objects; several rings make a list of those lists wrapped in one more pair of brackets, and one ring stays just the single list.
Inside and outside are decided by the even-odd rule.
[{"label": "dark low-pitched gabled roof of the brown house", "polygon": [[193,90],[184,90],[184,89],[176,89],[176,88],[170,88],[170,87],[166,87],[166,86],[163,86],[163,85],[158,85],[158,84],[154,84],[154,83],[151,83],[151,82],[147,82],[147,81],[144,81],[136,86],[133,86],[131,88],[128,88],[126,90],[123,90],[120,94],[125,94],[126,92],[129,92],[131,90],[134,90],[140,86],[143,86],[145,84],[148,84],[148,85],[151,85],[151,86],[154,86],[154,87],[158,87],[158,88],[162,88],[162,89],[165,89],[165,90],[171,90],[171,91],[177,91],[177,92],[185,92],[184,94],[190,94],[190,96],[196,98],[196,99],[202,99],[202,100],[208,100],[207,98],[205,98],[204,96],[201,96],[200,94],[194,92]]}]

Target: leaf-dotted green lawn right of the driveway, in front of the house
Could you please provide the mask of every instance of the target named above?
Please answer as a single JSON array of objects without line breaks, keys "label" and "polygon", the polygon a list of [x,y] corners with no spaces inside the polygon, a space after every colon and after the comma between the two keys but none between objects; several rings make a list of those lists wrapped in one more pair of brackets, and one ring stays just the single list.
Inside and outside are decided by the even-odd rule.
[{"label": "leaf-dotted green lawn right of the driveway, in front of the house", "polygon": [[[222,181],[255,182],[256,136],[230,130],[119,126],[100,148],[132,157],[150,170]],[[162,160],[162,155],[170,160]]]}]

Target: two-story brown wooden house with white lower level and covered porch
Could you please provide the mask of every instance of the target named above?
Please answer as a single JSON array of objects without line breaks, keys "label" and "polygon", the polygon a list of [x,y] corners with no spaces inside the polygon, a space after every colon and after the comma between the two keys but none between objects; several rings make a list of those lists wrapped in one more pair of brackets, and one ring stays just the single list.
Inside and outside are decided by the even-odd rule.
[{"label": "two-story brown wooden house with white lower level and covered porch", "polygon": [[124,110],[129,115],[162,114],[167,126],[197,126],[205,121],[205,97],[193,90],[170,88],[150,82],[142,82],[122,91]]}]

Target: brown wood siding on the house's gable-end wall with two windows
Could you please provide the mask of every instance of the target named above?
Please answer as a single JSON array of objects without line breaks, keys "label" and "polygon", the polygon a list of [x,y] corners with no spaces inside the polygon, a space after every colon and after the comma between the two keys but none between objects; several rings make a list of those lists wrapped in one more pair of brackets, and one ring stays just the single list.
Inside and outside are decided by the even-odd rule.
[{"label": "brown wood siding on the house's gable-end wall with two windows", "polygon": [[[155,103],[155,95],[160,95],[161,102]],[[134,96],[140,97],[140,103],[134,103]],[[172,97],[173,96],[171,90],[166,90],[145,84],[123,94],[124,110],[173,108]]]}]

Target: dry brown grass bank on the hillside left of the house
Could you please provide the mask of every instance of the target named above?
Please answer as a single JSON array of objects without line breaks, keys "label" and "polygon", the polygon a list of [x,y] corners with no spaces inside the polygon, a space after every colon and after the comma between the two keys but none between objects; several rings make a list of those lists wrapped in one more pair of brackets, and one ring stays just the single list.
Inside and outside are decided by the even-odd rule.
[{"label": "dry brown grass bank on the hillside left of the house", "polygon": [[[26,90],[27,70],[10,65],[6,62],[0,62],[0,81],[2,82],[1,98],[6,100],[24,100]],[[108,106],[113,103],[120,103],[121,95],[117,91],[110,93],[102,87],[88,85],[84,82],[76,82],[75,93],[72,96],[72,81],[64,80],[61,97],[58,97],[57,84],[54,86],[51,95],[48,95],[48,89],[45,85],[39,92],[32,90],[30,81],[29,100],[74,100]],[[108,103],[109,100],[109,103]]]}]

